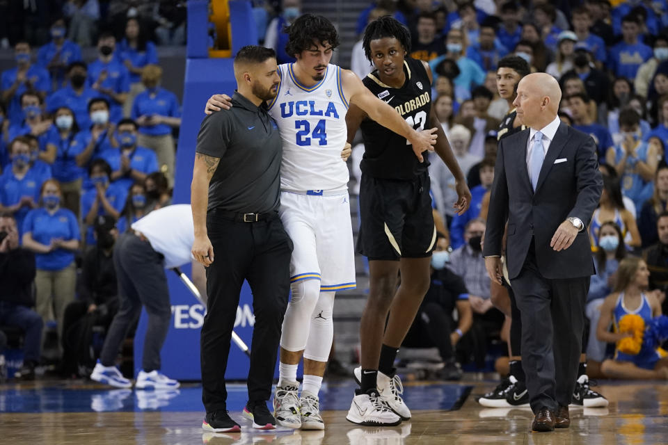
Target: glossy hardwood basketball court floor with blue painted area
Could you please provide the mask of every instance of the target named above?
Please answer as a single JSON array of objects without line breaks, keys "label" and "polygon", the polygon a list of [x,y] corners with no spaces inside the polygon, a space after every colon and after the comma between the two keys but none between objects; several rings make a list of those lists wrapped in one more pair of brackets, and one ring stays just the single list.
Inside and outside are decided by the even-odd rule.
[{"label": "glossy hardwood basketball court floor with blue painted area", "polygon": [[495,382],[406,383],[413,419],[393,428],[345,419],[354,384],[328,382],[321,394],[326,430],[258,431],[241,417],[245,385],[230,385],[228,409],[241,433],[201,430],[201,387],[178,391],[109,389],[84,381],[0,385],[0,444],[668,444],[666,382],[602,381],[607,408],[572,408],[571,428],[530,432],[525,408],[484,408],[475,396]]}]

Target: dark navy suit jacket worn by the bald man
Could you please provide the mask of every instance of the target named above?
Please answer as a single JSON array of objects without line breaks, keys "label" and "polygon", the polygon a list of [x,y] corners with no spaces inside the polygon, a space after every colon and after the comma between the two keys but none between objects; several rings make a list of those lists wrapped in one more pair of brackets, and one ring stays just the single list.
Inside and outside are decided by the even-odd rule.
[{"label": "dark navy suit jacket worn by the bald man", "polygon": [[[526,129],[499,142],[483,255],[502,254],[507,223],[506,254],[511,279],[522,270],[532,238],[543,277],[555,280],[592,275],[594,261],[587,226],[603,189],[594,140],[563,122],[559,124],[534,193],[526,161],[529,135],[530,130]],[[557,159],[559,162],[555,163]],[[555,252],[550,247],[552,236],[571,216],[580,218],[585,229],[575,236],[571,247]]]}]

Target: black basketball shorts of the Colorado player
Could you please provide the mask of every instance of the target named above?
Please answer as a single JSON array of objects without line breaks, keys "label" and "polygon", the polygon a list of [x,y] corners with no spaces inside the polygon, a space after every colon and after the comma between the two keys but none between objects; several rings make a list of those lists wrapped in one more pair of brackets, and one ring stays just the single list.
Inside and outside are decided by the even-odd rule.
[{"label": "black basketball shorts of the Colorado player", "polygon": [[412,180],[363,174],[357,252],[369,260],[431,256],[436,227],[429,186],[427,172]]}]

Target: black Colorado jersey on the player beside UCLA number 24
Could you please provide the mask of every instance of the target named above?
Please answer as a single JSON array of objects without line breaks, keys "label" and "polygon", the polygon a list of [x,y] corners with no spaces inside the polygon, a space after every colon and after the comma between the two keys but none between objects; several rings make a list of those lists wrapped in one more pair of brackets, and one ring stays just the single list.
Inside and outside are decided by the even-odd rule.
[{"label": "black Colorado jersey on the player beside UCLA number 24", "polygon": [[[367,75],[363,83],[376,97],[393,106],[411,127],[429,128],[431,83],[427,70],[420,60],[407,57],[404,60],[404,73],[406,83],[401,88],[385,85],[380,81],[377,70]],[[422,155],[424,162],[420,163],[404,136],[399,136],[369,118],[363,120],[360,130],[365,147],[360,163],[363,173],[383,179],[415,179],[427,171],[427,153]]]}]

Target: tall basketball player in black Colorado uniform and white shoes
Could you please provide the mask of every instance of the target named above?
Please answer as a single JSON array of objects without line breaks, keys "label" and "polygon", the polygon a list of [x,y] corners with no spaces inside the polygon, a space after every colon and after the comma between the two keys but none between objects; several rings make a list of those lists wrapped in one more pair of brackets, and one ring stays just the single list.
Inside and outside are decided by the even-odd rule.
[{"label": "tall basketball player in black Colorado uniform and white shoes", "polygon": [[[363,47],[376,70],[363,83],[376,97],[393,106],[414,129],[438,129],[434,149],[456,179],[459,200],[454,208],[461,214],[471,201],[466,177],[433,109],[429,65],[406,57],[410,44],[408,29],[392,17],[371,22],[365,31]],[[362,366],[354,371],[360,384],[356,398],[377,391],[381,403],[402,420],[408,420],[411,411],[401,398],[401,380],[392,364],[429,289],[431,251],[436,244],[429,196],[429,161],[426,156],[424,162],[418,161],[406,138],[370,120],[356,106],[349,108],[346,123],[348,141],[352,142],[359,128],[365,144],[360,164],[361,223],[357,250],[368,257],[370,274],[369,298],[360,323]],[[397,289],[399,272],[401,283]],[[356,398],[347,419],[364,425]]]}]

